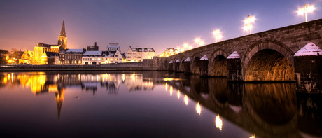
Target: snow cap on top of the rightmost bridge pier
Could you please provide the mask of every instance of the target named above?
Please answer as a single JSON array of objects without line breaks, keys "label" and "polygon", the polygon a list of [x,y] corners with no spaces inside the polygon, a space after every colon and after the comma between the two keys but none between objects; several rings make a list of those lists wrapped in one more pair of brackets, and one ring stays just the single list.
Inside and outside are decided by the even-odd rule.
[{"label": "snow cap on top of the rightmost bridge pier", "polygon": [[322,50],[318,48],[314,43],[307,43],[303,48],[298,50],[294,57],[305,56],[305,55],[322,55]]}]

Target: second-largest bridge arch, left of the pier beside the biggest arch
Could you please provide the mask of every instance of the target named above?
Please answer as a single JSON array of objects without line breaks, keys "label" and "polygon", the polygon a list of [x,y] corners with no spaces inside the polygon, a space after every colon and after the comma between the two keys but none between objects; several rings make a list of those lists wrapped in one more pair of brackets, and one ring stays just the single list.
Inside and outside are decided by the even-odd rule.
[{"label": "second-largest bridge arch, left of the pier beside the biggest arch", "polygon": [[228,76],[227,57],[228,54],[221,49],[215,50],[214,53],[211,54],[211,60],[209,62],[210,76]]}]

